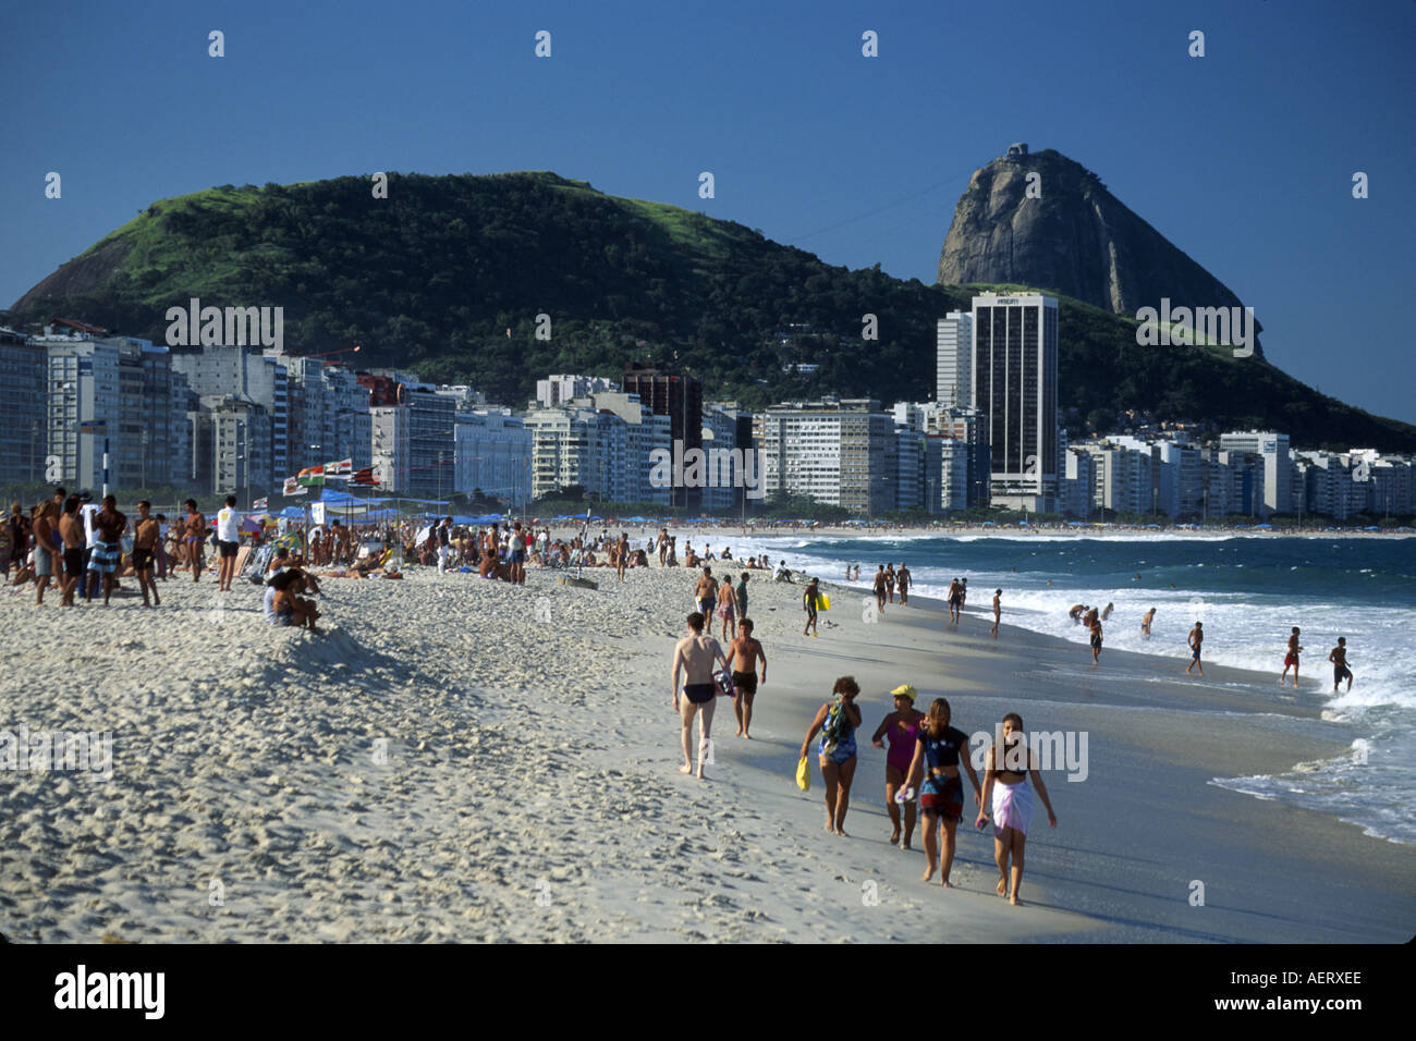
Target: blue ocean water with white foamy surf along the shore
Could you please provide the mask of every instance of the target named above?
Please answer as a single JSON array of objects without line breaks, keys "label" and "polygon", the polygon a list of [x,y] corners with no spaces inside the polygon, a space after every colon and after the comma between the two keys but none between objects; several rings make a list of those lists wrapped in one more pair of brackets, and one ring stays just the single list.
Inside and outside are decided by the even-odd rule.
[{"label": "blue ocean water with white foamy surf along the shore", "polygon": [[[943,598],[953,576],[967,576],[967,613],[991,616],[993,591],[1001,588],[1005,623],[1082,646],[1087,633],[1068,618],[1068,608],[1110,602],[1106,647],[1163,656],[1177,670],[1188,664],[1185,637],[1198,619],[1205,623],[1204,660],[1272,673],[1264,684],[1253,684],[1266,697],[1279,695],[1287,637],[1300,626],[1300,701],[1321,707],[1330,721],[1318,735],[1359,735],[1351,753],[1294,763],[1281,775],[1215,783],[1416,843],[1416,538],[1000,534],[722,541],[735,555],[767,550],[773,559],[831,582],[843,581],[847,562],[858,562],[862,589],[886,562],[908,562],[912,588],[925,596]],[[1150,608],[1155,619],[1147,640],[1140,622]],[[1344,683],[1334,694],[1327,656],[1338,636],[1347,637],[1355,680],[1351,693]],[[1097,681],[1124,677],[1100,670]],[[1284,690],[1291,695],[1291,673]]]}]

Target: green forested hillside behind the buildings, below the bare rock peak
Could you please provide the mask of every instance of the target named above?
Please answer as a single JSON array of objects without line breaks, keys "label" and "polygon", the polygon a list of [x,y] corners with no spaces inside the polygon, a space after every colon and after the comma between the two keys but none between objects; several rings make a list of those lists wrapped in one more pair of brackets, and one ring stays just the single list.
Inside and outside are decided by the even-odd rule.
[{"label": "green forested hillside behind the buildings, below the bare rock peak", "polygon": [[[927,398],[935,322],[967,310],[973,293],[878,265],[831,266],[739,224],[551,173],[392,174],[388,194],[341,177],[154,203],[25,293],[10,322],[75,317],[161,343],[167,309],[198,296],[283,306],[289,351],[358,343],[361,365],[469,382],[511,404],[549,372],[617,377],[629,360],[677,353],[711,397],[760,406],[827,392]],[[1126,317],[1069,297],[1061,309],[1061,401],[1082,415],[1120,402],[1274,426],[1296,445],[1416,450],[1416,428],[1325,398],[1259,357],[1138,347]],[[534,337],[541,313],[549,341]],[[878,341],[861,339],[867,313]],[[818,368],[786,371],[794,363]]]}]

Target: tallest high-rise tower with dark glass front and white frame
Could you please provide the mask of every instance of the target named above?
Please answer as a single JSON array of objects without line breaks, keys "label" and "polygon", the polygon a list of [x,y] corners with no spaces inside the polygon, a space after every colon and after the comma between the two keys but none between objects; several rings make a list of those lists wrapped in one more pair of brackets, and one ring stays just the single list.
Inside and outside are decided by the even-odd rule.
[{"label": "tallest high-rise tower with dark glass front and white frame", "polygon": [[1058,302],[973,299],[973,394],[986,414],[994,506],[1052,513],[1058,496]]}]

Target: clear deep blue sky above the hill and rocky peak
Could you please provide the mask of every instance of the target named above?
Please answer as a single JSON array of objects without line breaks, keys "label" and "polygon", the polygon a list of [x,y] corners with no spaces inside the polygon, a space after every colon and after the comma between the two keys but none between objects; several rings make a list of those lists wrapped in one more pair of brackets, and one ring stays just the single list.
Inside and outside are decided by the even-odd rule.
[{"label": "clear deep blue sky above the hill and rocky peak", "polygon": [[6,305],[154,200],[375,170],[555,170],[933,282],[969,174],[1022,140],[1252,305],[1274,364],[1416,421],[1408,0],[103,1],[4,28]]}]

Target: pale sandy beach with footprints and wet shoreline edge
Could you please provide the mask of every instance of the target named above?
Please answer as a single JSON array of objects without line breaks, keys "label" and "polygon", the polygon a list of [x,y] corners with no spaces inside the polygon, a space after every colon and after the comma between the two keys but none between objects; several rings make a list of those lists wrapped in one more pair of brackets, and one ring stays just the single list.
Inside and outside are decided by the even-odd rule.
[{"label": "pale sandy beach with footprints and wet shoreline edge", "polygon": [[[718,540],[712,538],[716,544]],[[733,540],[736,548],[739,540]],[[715,574],[725,567],[714,564]],[[1416,847],[1219,787],[1214,778],[1349,755],[1320,698],[1259,698],[1238,670],[1090,654],[984,603],[862,618],[826,584],[818,639],[800,585],[753,572],[769,656],[753,741],[721,698],[704,782],[678,773],[670,653],[695,572],[530,569],[524,588],[411,569],[329,579],[324,636],[262,622],[259,589],[178,575],[144,610],[35,609],[0,592],[14,646],[0,729],[112,735],[112,776],[0,770],[0,932],[14,940],[1403,942]],[[830,575],[824,578],[830,579]],[[981,598],[980,598],[981,599]],[[862,687],[847,819],[793,770],[837,676]],[[1022,908],[993,892],[971,793],[956,889],[888,844],[886,691],[943,694],[954,725],[1086,732],[1086,779],[1045,779]],[[1272,684],[1272,680],[1269,680]],[[1140,711],[1147,710],[1147,711]],[[814,756],[813,756],[814,759]],[[813,763],[814,765],[814,763]],[[916,847],[922,846],[916,834]],[[1202,882],[1204,904],[1194,901]]]}]

